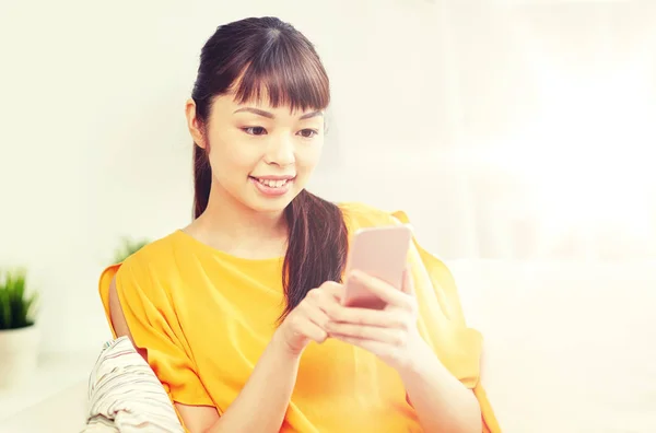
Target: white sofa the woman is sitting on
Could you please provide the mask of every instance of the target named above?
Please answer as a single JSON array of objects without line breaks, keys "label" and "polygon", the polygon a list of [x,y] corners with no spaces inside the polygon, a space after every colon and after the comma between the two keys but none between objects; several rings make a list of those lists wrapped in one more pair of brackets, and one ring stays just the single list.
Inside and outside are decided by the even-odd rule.
[{"label": "white sofa the woman is sitting on", "polygon": [[[504,432],[656,432],[656,261],[452,261]],[[71,433],[86,383],[0,422]]]}]

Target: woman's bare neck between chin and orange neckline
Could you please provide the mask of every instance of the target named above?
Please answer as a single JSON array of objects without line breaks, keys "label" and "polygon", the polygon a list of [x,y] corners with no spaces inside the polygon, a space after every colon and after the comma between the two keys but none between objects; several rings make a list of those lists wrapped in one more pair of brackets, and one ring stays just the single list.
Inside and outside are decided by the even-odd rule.
[{"label": "woman's bare neck between chin and orange neckline", "polygon": [[190,234],[237,256],[276,256],[284,250],[284,211],[258,212],[213,184],[206,211],[188,227]]}]

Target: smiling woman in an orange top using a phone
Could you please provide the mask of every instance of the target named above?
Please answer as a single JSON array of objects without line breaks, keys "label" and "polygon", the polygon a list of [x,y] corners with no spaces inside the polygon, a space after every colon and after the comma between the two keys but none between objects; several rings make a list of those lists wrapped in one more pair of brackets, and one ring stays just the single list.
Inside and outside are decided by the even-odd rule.
[{"label": "smiling woman in an orange top using a phone", "polygon": [[440,261],[414,244],[401,291],[353,276],[385,311],[341,306],[350,234],[405,216],[304,189],[329,97],[291,25],[216,30],[186,105],[195,220],[103,273],[114,335],[130,337],[190,432],[497,431],[480,335]]}]

